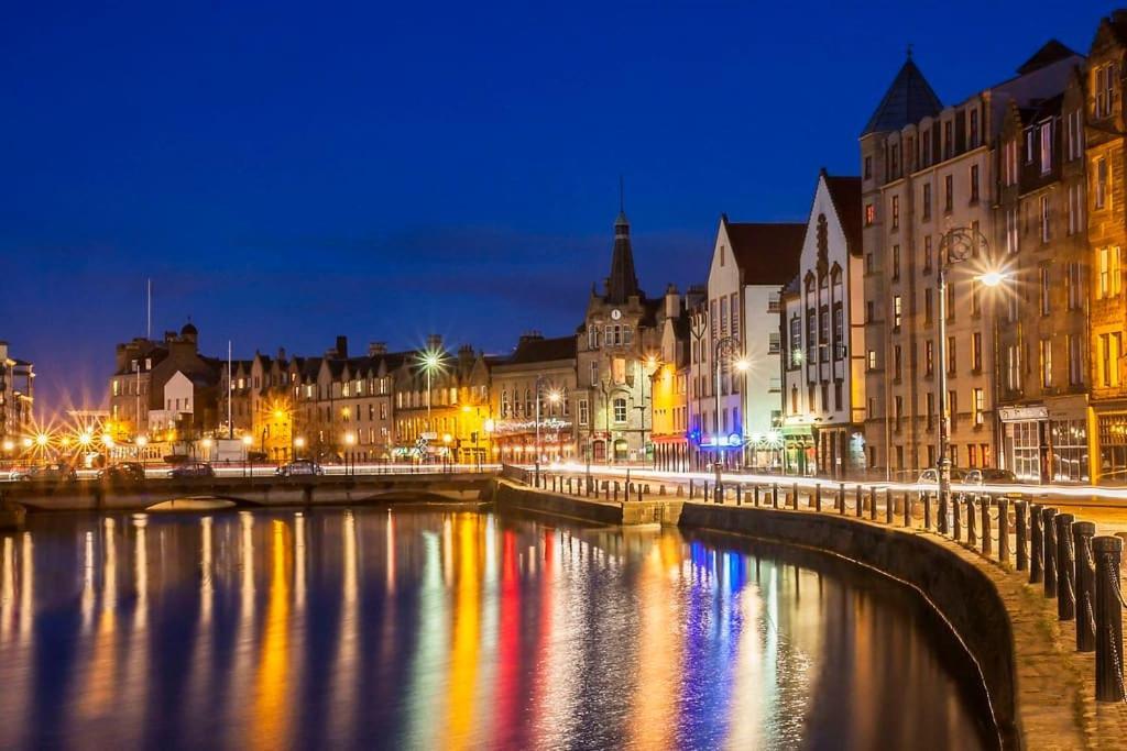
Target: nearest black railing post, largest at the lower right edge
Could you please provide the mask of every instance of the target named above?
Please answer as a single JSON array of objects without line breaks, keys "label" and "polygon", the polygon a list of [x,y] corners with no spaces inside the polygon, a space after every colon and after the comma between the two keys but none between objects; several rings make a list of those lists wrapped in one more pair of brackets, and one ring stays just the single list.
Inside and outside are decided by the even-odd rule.
[{"label": "nearest black railing post, largest at the lower right edge", "polygon": [[1095,556],[1095,700],[1124,700],[1124,614],[1119,594],[1119,537],[1092,540]]}]

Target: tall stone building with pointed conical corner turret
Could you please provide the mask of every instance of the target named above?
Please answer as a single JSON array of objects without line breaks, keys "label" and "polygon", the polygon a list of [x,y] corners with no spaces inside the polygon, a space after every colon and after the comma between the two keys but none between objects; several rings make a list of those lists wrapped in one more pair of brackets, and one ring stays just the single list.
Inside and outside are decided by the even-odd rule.
[{"label": "tall stone building with pointed conical corner turret", "polygon": [[861,134],[866,446],[869,466],[882,474],[912,477],[937,462],[937,278],[952,230],[985,241],[949,265],[950,459],[997,462],[997,299],[976,277],[997,256],[990,240],[997,236],[996,145],[1006,107],[1055,96],[1080,60],[1067,50],[1041,52],[1015,77],[947,107],[908,59]]}]

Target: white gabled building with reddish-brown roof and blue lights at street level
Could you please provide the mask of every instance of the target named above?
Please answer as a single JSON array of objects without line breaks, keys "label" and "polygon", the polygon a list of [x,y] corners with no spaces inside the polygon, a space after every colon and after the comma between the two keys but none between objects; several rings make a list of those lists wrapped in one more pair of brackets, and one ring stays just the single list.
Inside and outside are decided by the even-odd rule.
[{"label": "white gabled building with reddish-brown roof and blue lights at street level", "polygon": [[798,271],[805,231],[802,224],[720,217],[706,310],[696,316],[704,325],[694,328],[691,352],[690,433],[698,467],[774,461],[767,437],[782,417],[780,294]]}]

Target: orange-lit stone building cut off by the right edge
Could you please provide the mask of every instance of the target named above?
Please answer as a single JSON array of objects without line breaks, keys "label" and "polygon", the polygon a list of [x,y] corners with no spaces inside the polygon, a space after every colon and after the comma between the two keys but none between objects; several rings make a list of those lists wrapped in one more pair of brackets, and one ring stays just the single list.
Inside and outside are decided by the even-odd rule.
[{"label": "orange-lit stone building cut off by the right edge", "polygon": [[1091,408],[1090,473],[1127,481],[1127,372],[1122,251],[1127,247],[1127,11],[1101,20],[1088,55],[1084,149],[1088,172]]}]

